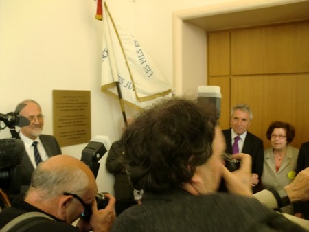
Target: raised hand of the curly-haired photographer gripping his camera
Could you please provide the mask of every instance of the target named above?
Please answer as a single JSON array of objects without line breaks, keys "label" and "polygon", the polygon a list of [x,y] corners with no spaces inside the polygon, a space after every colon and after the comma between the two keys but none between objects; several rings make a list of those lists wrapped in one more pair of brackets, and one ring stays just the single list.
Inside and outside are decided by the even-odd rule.
[{"label": "raised hand of the curly-haired photographer gripping his camera", "polygon": [[238,153],[232,155],[233,159],[241,161],[240,168],[229,172],[227,167],[223,167],[222,178],[225,180],[227,190],[233,194],[253,196],[251,186],[251,156],[249,154]]}]

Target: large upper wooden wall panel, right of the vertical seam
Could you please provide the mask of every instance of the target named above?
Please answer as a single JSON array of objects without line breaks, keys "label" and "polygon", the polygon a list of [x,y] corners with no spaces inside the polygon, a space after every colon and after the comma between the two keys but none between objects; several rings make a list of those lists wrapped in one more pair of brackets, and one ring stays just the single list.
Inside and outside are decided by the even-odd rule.
[{"label": "large upper wooden wall panel, right of the vertical seam", "polygon": [[231,32],[231,74],[309,72],[309,22]]}]

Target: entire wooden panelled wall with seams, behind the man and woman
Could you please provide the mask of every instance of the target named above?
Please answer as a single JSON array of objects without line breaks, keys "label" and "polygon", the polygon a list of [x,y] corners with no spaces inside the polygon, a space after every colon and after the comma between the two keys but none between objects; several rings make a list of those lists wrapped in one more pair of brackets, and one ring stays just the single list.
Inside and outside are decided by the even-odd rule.
[{"label": "entire wooden panelled wall with seams, behind the man and woman", "polygon": [[246,103],[253,111],[249,131],[265,148],[266,130],[275,120],[295,126],[293,146],[309,141],[308,38],[309,21],[208,32],[207,80],[221,87],[222,129],[229,128],[231,106]]}]

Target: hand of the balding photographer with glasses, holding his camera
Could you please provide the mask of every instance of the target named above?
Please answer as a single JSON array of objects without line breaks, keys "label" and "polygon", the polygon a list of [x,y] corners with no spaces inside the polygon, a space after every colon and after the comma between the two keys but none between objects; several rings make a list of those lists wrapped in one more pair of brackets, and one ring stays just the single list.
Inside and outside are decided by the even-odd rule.
[{"label": "hand of the balding photographer with glasses, holding his camera", "polygon": [[116,199],[111,194],[104,194],[108,198],[108,205],[105,209],[98,209],[97,202],[92,202],[92,214],[90,220],[80,218],[77,227],[80,231],[103,232],[110,231],[113,221],[116,218],[115,202]]}]

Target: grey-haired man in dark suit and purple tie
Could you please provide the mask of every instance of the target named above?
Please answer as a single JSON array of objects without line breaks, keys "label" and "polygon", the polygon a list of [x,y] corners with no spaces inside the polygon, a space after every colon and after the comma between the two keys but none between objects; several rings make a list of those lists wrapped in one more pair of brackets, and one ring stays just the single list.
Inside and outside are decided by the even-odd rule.
[{"label": "grey-haired man in dark suit and purple tie", "polygon": [[[251,108],[246,104],[238,104],[231,108],[231,128],[223,130],[227,143],[225,152],[246,153],[252,156],[252,179],[253,192],[258,192],[260,187],[260,177],[263,173],[264,146],[262,139],[248,132],[248,128],[253,119]],[[236,141],[238,137],[238,141]],[[236,146],[236,151],[233,151]]]}]

